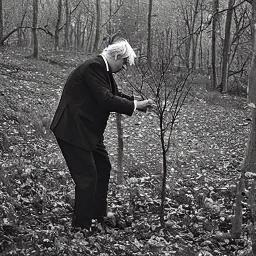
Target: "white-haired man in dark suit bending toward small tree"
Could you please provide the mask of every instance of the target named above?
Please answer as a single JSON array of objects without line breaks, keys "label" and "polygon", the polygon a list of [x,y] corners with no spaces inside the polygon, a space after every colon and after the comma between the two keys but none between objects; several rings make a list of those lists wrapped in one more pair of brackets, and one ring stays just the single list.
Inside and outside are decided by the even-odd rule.
[{"label": "white-haired man in dark suit bending toward small tree", "polygon": [[89,229],[107,210],[111,164],[103,143],[110,112],[131,116],[153,101],[136,101],[118,91],[113,73],[134,64],[136,54],[124,39],[74,69],[64,86],[50,129],[75,182],[72,225]]}]

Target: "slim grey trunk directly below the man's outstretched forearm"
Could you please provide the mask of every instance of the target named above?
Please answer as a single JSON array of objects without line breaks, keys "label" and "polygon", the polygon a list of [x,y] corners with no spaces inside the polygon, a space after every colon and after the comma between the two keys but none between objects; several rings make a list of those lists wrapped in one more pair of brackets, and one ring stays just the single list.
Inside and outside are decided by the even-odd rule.
[{"label": "slim grey trunk directly below the man's outstretched forearm", "polygon": [[118,134],[118,162],[117,162],[117,184],[123,184],[123,131],[122,131],[122,116],[116,113],[116,125]]}]

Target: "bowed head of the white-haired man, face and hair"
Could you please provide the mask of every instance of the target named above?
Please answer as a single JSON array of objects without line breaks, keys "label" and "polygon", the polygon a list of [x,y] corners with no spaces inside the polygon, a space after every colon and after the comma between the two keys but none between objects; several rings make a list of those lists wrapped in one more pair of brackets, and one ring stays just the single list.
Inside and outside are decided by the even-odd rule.
[{"label": "bowed head of the white-haired man, face and hair", "polygon": [[115,39],[102,52],[106,57],[113,73],[126,69],[127,65],[134,65],[136,54],[127,40]]}]

